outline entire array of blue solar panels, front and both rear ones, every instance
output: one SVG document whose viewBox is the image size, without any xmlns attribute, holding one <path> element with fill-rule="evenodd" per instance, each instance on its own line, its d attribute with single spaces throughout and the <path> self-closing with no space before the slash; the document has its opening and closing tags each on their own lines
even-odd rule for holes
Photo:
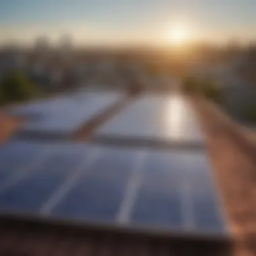
<svg viewBox="0 0 256 256">
<path fill-rule="evenodd" d="M 13 113 L 31 118 L 22 131 L 68 135 L 120 98 L 118 93 L 74 92 Z M 228 234 L 207 152 L 172 147 L 205 144 L 183 96 L 141 96 L 98 129 L 94 139 L 122 146 L 17 139 L 2 146 L 0 212 Z M 127 141 L 170 147 L 127 147 Z"/>
</svg>

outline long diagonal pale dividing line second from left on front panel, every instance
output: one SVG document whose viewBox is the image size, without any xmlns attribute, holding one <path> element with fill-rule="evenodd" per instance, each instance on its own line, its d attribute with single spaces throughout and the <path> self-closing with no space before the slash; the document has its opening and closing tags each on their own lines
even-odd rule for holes
<svg viewBox="0 0 256 256">
<path fill-rule="evenodd" d="M 88 169 L 91 164 L 93 164 L 94 160 L 99 156 L 100 150 L 98 148 L 94 148 L 88 156 L 82 161 L 81 164 L 77 167 L 77 170 L 73 172 L 62 185 L 60 185 L 56 191 L 53 193 L 51 198 L 49 198 L 40 208 L 40 214 L 49 215 L 51 211 L 57 206 L 59 202 L 61 202 L 65 195 L 67 195 L 68 191 L 72 189 L 77 183 L 79 177 L 83 174 L 84 170 Z"/>
</svg>

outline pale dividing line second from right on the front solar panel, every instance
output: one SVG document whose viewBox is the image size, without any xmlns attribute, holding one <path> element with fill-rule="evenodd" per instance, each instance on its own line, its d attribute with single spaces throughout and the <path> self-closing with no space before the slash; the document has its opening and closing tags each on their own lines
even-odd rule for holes
<svg viewBox="0 0 256 256">
<path fill-rule="evenodd" d="M 137 154 L 131 177 L 127 183 L 125 197 L 121 203 L 119 213 L 117 214 L 117 222 L 119 223 L 129 222 L 132 208 L 137 198 L 137 192 L 139 191 L 139 186 L 141 185 L 143 173 L 145 171 L 145 162 L 146 152 L 141 151 Z"/>
</svg>

